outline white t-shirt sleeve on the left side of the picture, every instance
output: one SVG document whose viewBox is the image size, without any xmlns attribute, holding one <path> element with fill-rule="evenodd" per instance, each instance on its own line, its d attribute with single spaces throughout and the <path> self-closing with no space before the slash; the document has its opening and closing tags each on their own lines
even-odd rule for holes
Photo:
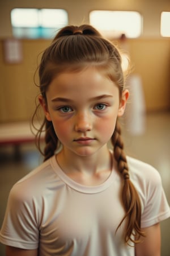
<svg viewBox="0 0 170 256">
<path fill-rule="evenodd" d="M 27 189 L 15 184 L 10 191 L 0 241 L 5 245 L 33 250 L 39 245 L 36 207 Z"/>
</svg>

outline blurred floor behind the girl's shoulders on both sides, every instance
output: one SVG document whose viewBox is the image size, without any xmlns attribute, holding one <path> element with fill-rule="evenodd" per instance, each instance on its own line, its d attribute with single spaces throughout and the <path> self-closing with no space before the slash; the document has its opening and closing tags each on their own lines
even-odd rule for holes
<svg viewBox="0 0 170 256">
<path fill-rule="evenodd" d="M 143 129 L 136 131 L 131 130 L 128 124 L 122 121 L 126 153 L 158 169 L 170 204 L 170 112 L 147 114 L 144 120 Z M 21 155 L 17 159 L 14 158 L 14 148 L 0 148 L 0 226 L 10 188 L 42 161 L 33 144 L 25 144 L 20 149 Z M 162 256 L 170 255 L 169 227 L 170 218 L 161 223 Z M 0 255 L 5 256 L 3 245 L 0 245 Z"/>
</svg>

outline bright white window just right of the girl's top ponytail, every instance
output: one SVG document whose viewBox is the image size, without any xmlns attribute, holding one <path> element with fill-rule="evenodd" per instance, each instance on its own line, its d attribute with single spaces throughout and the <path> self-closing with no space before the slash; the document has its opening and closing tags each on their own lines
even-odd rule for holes
<svg viewBox="0 0 170 256">
<path fill-rule="evenodd" d="M 137 11 L 91 11 L 90 23 L 103 35 L 137 38 L 142 32 L 142 16 Z"/>
</svg>

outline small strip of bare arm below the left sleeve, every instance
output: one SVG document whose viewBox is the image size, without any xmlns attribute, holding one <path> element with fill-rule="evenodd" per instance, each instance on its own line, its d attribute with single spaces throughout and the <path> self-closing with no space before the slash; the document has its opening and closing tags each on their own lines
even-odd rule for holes
<svg viewBox="0 0 170 256">
<path fill-rule="evenodd" d="M 6 246 L 6 256 L 37 256 L 38 250 L 24 250 L 12 246 Z"/>
</svg>

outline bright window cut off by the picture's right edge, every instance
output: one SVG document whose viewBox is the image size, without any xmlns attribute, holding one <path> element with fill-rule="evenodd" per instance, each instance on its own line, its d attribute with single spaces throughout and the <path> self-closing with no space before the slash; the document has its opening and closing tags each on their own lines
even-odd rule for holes
<svg viewBox="0 0 170 256">
<path fill-rule="evenodd" d="M 170 36 L 170 11 L 163 11 L 160 18 L 160 34 Z"/>
</svg>

